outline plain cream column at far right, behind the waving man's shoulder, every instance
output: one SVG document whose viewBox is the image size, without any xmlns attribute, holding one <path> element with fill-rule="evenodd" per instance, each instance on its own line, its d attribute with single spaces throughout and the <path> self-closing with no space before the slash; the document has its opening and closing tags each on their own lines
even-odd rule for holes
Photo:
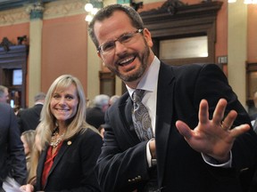
<svg viewBox="0 0 257 192">
<path fill-rule="evenodd" d="M 245 60 L 247 59 L 247 5 L 228 4 L 228 81 L 246 108 Z"/>
</svg>

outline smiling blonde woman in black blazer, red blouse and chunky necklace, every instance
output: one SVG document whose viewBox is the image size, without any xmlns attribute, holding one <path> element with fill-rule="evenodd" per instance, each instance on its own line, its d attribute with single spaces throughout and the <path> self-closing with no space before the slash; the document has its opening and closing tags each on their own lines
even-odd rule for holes
<svg viewBox="0 0 257 192">
<path fill-rule="evenodd" d="M 59 76 L 50 86 L 41 112 L 42 153 L 32 191 L 100 191 L 94 167 L 102 138 L 85 122 L 86 100 L 78 78 Z M 46 150 L 44 150 L 46 148 Z"/>
</svg>

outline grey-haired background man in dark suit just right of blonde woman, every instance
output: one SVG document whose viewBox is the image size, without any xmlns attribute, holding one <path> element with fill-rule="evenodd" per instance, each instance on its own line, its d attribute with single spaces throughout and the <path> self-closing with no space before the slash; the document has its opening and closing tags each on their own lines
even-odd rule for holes
<svg viewBox="0 0 257 192">
<path fill-rule="evenodd" d="M 93 108 L 87 108 L 86 121 L 96 129 L 104 124 L 105 111 L 109 107 L 110 97 L 105 94 L 96 95 L 93 101 Z"/>
</svg>

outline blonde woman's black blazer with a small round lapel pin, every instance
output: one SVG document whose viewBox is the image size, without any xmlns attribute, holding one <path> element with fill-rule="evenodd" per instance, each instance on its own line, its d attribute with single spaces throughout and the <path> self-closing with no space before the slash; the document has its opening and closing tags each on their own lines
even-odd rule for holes
<svg viewBox="0 0 257 192">
<path fill-rule="evenodd" d="M 96 159 L 101 152 L 101 136 L 87 129 L 71 140 L 64 140 L 46 180 L 41 186 L 47 149 L 37 165 L 37 190 L 91 192 L 100 191 L 94 172 Z"/>
</svg>

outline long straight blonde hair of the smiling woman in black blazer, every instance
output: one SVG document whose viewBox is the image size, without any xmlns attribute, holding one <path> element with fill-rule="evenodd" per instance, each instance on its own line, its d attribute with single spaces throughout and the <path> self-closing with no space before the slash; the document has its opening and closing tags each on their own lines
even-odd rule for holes
<svg viewBox="0 0 257 192">
<path fill-rule="evenodd" d="M 74 84 L 77 88 L 78 96 L 78 107 L 75 116 L 66 121 L 67 130 L 63 137 L 63 140 L 69 140 L 75 134 L 86 130 L 85 128 L 91 128 L 89 124 L 86 123 L 86 98 L 84 94 L 84 89 L 82 84 L 79 82 L 79 79 L 71 75 L 62 75 L 54 80 L 54 83 L 50 86 L 48 92 L 46 93 L 46 100 L 44 107 L 41 111 L 40 121 L 44 126 L 42 129 L 42 148 L 45 148 L 47 144 L 50 143 L 52 133 L 56 128 L 56 118 L 51 113 L 50 102 L 53 97 L 54 92 L 58 89 L 66 89 L 71 84 Z"/>
</svg>

